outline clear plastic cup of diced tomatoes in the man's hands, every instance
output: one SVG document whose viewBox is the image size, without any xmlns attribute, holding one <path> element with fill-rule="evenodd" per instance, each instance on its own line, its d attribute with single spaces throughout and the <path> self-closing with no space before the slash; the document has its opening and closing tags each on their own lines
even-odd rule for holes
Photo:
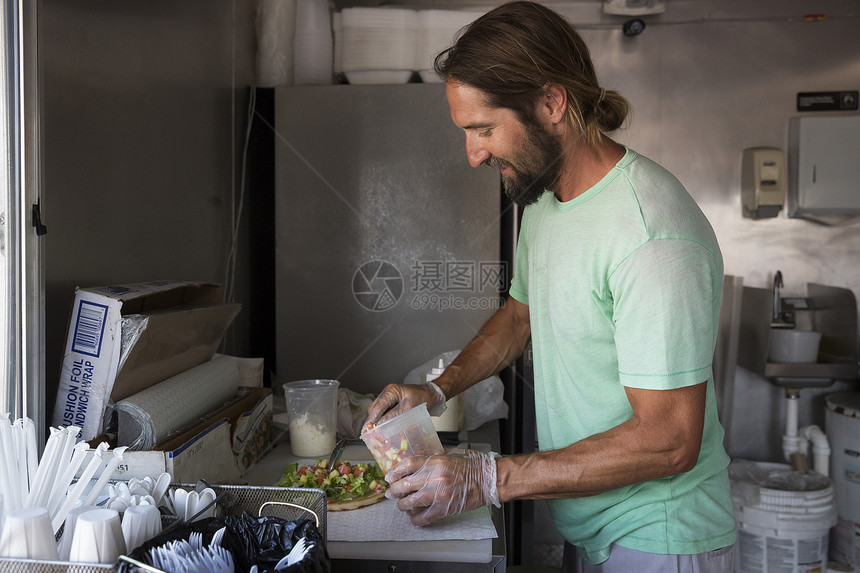
<svg viewBox="0 0 860 573">
<path fill-rule="evenodd" d="M 426 404 L 367 430 L 361 439 L 385 473 L 408 457 L 445 453 Z"/>
</svg>

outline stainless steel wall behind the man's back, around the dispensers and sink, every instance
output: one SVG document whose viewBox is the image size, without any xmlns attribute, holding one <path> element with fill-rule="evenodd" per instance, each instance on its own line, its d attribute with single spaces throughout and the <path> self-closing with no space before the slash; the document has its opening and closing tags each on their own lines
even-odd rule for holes
<svg viewBox="0 0 860 573">
<path fill-rule="evenodd" d="M 631 38 L 621 32 L 624 18 L 602 15 L 599 3 L 552 6 L 579 27 L 602 84 L 633 105 L 617 138 L 686 185 L 716 230 L 727 274 L 768 287 L 779 269 L 786 294 L 805 294 L 807 282 L 860 290 L 857 219 L 837 227 L 784 213 L 756 221 L 742 217 L 740 202 L 743 150 L 787 155 L 798 92 L 860 88 L 856 2 L 817 2 L 814 12 L 826 17 L 807 22 L 813 7 L 796 0 L 668 0 Z M 782 391 L 742 369 L 735 382 L 729 453 L 779 460 Z M 844 387 L 804 390 L 800 423 L 823 427 L 823 394 Z"/>
</svg>

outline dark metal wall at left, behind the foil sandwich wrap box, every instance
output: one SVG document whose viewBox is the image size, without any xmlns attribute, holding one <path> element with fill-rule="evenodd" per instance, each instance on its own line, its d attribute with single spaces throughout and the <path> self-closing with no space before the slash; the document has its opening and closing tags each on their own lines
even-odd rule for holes
<svg viewBox="0 0 860 573">
<path fill-rule="evenodd" d="M 240 0 L 42 1 L 49 411 L 76 286 L 224 280 L 253 10 Z"/>
</svg>

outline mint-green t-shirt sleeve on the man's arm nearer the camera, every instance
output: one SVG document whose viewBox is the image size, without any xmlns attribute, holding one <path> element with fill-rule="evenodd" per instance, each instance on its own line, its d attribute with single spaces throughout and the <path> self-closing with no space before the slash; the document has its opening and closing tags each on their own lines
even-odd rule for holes
<svg viewBox="0 0 860 573">
<path fill-rule="evenodd" d="M 708 380 L 716 343 L 719 254 L 691 240 L 652 240 L 613 272 L 621 383 L 673 389 Z"/>
</svg>

